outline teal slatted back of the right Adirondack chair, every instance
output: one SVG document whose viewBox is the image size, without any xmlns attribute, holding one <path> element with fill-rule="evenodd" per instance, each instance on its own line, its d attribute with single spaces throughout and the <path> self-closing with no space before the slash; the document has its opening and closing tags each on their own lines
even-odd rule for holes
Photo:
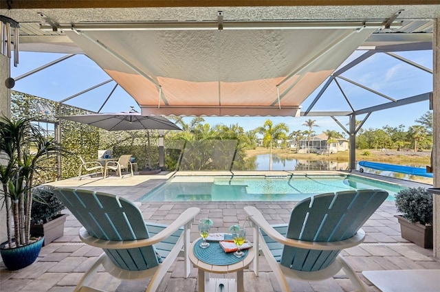
<svg viewBox="0 0 440 292">
<path fill-rule="evenodd" d="M 298 203 L 290 217 L 287 238 L 334 242 L 351 238 L 384 202 L 382 190 L 344 191 L 319 194 Z M 328 267 L 340 250 L 322 251 L 284 247 L 281 265 L 298 271 Z"/>
</svg>

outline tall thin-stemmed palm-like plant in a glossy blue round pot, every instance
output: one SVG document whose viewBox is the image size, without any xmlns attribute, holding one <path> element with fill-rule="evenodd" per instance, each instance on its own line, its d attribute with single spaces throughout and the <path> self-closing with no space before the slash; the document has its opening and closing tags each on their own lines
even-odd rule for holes
<svg viewBox="0 0 440 292">
<path fill-rule="evenodd" d="M 10 120 L 0 117 L 0 198 L 5 207 L 8 241 L 1 243 L 3 263 L 10 270 L 31 265 L 36 260 L 43 236 L 30 233 L 32 188 L 47 160 L 61 153 L 54 139 L 47 139 L 28 118 Z M 23 254 L 24 253 L 24 254 Z"/>
</svg>

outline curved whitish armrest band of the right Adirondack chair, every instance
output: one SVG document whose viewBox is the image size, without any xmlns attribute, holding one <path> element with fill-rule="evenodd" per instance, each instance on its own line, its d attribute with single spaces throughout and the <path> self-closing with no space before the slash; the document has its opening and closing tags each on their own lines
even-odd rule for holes
<svg viewBox="0 0 440 292">
<path fill-rule="evenodd" d="M 272 227 L 272 225 L 270 225 L 266 221 L 263 214 L 261 214 L 261 212 L 258 209 L 256 209 L 256 207 L 246 206 L 244 207 L 244 210 L 246 213 L 248 213 L 249 215 L 248 218 L 250 219 L 250 221 L 252 221 L 261 230 L 263 230 L 267 234 L 267 236 L 269 236 L 273 240 L 276 240 L 278 243 L 281 243 L 283 245 L 288 245 L 290 247 L 299 247 L 303 249 L 318 249 L 318 250 L 346 249 L 349 247 L 355 247 L 356 245 L 359 245 L 365 239 L 365 232 L 363 229 L 359 229 L 358 232 L 356 232 L 356 234 L 351 238 L 348 238 L 346 240 L 333 241 L 329 243 L 286 238 L 285 236 L 277 232 L 276 229 L 274 229 L 274 227 Z"/>
</svg>

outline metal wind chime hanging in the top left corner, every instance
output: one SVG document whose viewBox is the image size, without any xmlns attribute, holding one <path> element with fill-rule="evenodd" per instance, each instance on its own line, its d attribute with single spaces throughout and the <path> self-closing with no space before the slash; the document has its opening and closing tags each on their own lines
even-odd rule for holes
<svg viewBox="0 0 440 292">
<path fill-rule="evenodd" d="M 20 25 L 8 16 L 0 15 L 0 54 L 11 58 L 14 46 L 14 66 L 19 64 L 19 28 Z"/>
</svg>

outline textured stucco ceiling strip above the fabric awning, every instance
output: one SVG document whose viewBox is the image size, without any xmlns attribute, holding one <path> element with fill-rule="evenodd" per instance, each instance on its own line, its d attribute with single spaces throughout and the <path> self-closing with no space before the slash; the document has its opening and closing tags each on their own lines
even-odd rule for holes
<svg viewBox="0 0 440 292">
<path fill-rule="evenodd" d="M 2 7 L 3 8 L 3 7 Z M 41 14 L 54 23 L 108 21 L 212 21 L 217 12 L 225 21 L 270 20 L 368 20 L 388 19 L 403 10 L 399 19 L 439 17 L 437 5 L 347 5 L 347 6 L 278 6 L 278 7 L 184 7 L 184 8 L 87 8 L 87 9 L 0 9 L 0 13 L 19 22 L 40 22 Z"/>
</svg>

